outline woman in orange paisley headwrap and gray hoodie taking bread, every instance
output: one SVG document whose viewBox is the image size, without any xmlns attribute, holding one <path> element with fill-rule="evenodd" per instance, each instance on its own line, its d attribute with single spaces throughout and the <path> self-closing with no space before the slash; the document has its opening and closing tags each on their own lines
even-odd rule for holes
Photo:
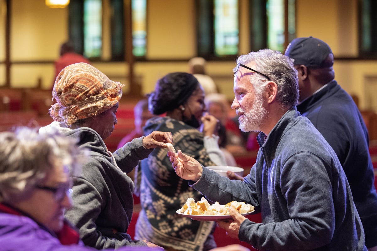
<svg viewBox="0 0 377 251">
<path fill-rule="evenodd" d="M 65 216 L 80 228 L 84 243 L 97 249 L 156 246 L 145 240 L 132 240 L 127 234 L 134 184 L 126 173 L 154 148 L 166 148 L 166 143 L 172 143 L 170 132 L 153 131 L 114 153 L 107 151 L 103 140 L 117 123 L 115 114 L 122 87 L 92 65 L 65 67 L 52 91 L 56 103 L 49 112 L 55 121 L 40 129 L 58 129 L 67 137 L 77 138 L 80 148 L 89 150 L 89 161 L 74 181 L 73 207 Z"/>
</svg>

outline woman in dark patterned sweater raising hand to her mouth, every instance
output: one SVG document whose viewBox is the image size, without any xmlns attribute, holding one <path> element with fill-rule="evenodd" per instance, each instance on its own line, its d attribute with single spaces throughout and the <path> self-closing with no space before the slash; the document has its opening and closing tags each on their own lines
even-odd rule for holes
<svg viewBox="0 0 377 251">
<path fill-rule="evenodd" d="M 218 120 L 203 115 L 204 91 L 193 75 L 175 72 L 159 79 L 149 96 L 149 110 L 156 115 L 166 113 L 166 116 L 150 119 L 144 127 L 145 133 L 172 132 L 177 151 L 187 152 L 204 166 L 225 164 L 218 136 L 214 135 Z M 175 174 L 167 152 L 167 149 L 155 149 L 138 166 L 142 209 L 135 238 L 148 239 L 168 251 L 216 247 L 213 222 L 192 221 L 176 213 L 188 198 L 198 201 L 202 196 Z"/>
</svg>

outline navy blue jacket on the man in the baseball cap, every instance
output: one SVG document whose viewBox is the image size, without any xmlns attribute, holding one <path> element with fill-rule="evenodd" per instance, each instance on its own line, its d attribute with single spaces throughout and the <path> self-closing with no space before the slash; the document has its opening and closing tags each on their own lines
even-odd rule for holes
<svg viewBox="0 0 377 251">
<path fill-rule="evenodd" d="M 365 231 L 365 245 L 377 245 L 377 194 L 363 118 L 351 96 L 335 80 L 304 100 L 297 110 L 334 149 L 347 176 Z"/>
</svg>

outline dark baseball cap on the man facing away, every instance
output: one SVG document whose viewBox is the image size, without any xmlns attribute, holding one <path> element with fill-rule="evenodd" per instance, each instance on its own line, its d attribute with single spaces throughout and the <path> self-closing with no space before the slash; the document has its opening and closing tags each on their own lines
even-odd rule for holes
<svg viewBox="0 0 377 251">
<path fill-rule="evenodd" d="M 303 64 L 306 67 L 326 68 L 334 64 L 334 55 L 331 48 L 318 38 L 295 38 L 288 45 L 284 54 L 293 59 L 296 65 Z M 332 59 L 325 60 L 329 54 L 332 54 Z"/>
</svg>

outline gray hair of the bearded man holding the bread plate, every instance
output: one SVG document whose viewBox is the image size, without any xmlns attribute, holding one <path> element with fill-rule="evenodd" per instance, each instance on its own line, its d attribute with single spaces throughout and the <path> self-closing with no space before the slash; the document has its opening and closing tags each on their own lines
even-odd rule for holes
<svg viewBox="0 0 377 251">
<path fill-rule="evenodd" d="M 276 99 L 285 108 L 297 105 L 299 99 L 298 76 L 291 58 L 275 50 L 263 49 L 241 55 L 237 59 L 237 63 L 245 65 L 250 62 L 256 64 L 254 70 L 265 74 L 277 84 Z M 233 69 L 233 71 L 235 70 L 236 68 Z M 268 83 L 267 79 L 259 74 L 253 74 L 251 80 L 253 80 L 252 84 L 257 94 L 261 94 Z"/>
</svg>

